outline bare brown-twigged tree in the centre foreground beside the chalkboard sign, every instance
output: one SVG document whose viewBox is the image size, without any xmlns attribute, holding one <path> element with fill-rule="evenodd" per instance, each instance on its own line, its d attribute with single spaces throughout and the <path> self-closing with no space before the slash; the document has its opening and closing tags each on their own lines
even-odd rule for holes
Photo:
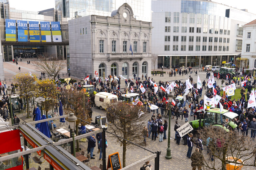
<svg viewBox="0 0 256 170">
<path fill-rule="evenodd" d="M 138 116 L 141 111 L 144 111 L 143 106 L 132 105 L 126 102 L 117 102 L 108 104 L 107 119 L 111 123 L 108 130 L 117 136 L 123 137 L 133 143 L 141 144 L 142 128 L 145 126 L 144 114 Z M 126 150 L 131 146 L 126 140 L 123 140 L 115 135 L 110 137 L 115 138 L 117 143 L 123 145 L 123 167 L 126 167 Z"/>
</svg>

